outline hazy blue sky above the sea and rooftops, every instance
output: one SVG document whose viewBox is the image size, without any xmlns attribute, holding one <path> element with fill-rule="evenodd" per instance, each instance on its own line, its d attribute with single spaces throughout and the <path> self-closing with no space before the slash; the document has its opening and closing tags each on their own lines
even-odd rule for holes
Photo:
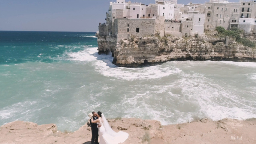
<svg viewBox="0 0 256 144">
<path fill-rule="evenodd" d="M 105 22 L 110 1 L 116 2 L 116 0 L 0 0 L 0 31 L 96 32 L 99 22 Z M 155 0 L 130 1 L 155 3 Z M 178 0 L 178 3 L 205 1 L 209 0 Z"/>
</svg>

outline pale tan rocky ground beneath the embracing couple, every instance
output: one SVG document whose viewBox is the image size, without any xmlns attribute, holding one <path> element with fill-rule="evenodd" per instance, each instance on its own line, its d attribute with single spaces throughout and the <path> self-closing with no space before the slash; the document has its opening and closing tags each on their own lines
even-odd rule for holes
<svg viewBox="0 0 256 144">
<path fill-rule="evenodd" d="M 123 144 L 255 144 L 256 119 L 222 119 L 176 125 L 161 125 L 156 120 L 111 119 L 114 131 L 129 134 Z M 83 125 L 75 132 L 61 132 L 55 124 L 37 125 L 15 121 L 0 127 L 1 144 L 90 144 L 91 128 Z"/>
</svg>

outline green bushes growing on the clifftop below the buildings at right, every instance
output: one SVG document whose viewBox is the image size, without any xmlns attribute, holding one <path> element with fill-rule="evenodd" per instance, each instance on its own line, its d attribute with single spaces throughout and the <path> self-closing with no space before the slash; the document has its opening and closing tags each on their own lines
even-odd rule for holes
<svg viewBox="0 0 256 144">
<path fill-rule="evenodd" d="M 243 35 L 244 31 L 241 30 L 241 29 L 238 29 L 238 28 L 236 28 L 236 27 L 232 27 L 232 28 L 230 29 L 230 31 L 229 31 L 229 30 L 225 30 L 225 29 L 224 29 L 223 27 L 221 27 L 221 26 L 217 26 L 217 27 L 216 27 L 216 30 L 217 30 L 218 35 L 219 35 L 220 37 L 232 36 L 232 37 L 236 38 L 236 41 L 237 41 L 237 42 L 242 43 L 244 46 L 248 46 L 248 47 L 255 48 L 255 45 L 256 45 L 256 44 L 255 44 L 254 42 L 250 41 L 249 39 L 244 38 L 244 35 Z M 241 37 L 241 35 L 242 35 L 243 37 Z"/>
</svg>

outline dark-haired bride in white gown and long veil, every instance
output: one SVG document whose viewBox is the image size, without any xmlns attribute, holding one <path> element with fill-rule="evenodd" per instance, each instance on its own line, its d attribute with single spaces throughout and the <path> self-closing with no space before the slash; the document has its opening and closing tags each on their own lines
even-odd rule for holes
<svg viewBox="0 0 256 144">
<path fill-rule="evenodd" d="M 101 125 L 98 132 L 100 137 L 100 144 L 123 143 L 128 138 L 129 134 L 126 132 L 119 131 L 118 133 L 116 133 L 115 131 L 113 131 L 103 113 L 98 112 L 97 117 L 98 119 L 92 119 L 91 121 L 92 123 L 97 123 L 98 125 Z"/>
</svg>

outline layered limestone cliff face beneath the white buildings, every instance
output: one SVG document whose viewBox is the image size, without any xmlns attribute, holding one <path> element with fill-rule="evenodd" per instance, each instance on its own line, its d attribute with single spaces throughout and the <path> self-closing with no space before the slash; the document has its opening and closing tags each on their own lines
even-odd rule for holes
<svg viewBox="0 0 256 144">
<path fill-rule="evenodd" d="M 113 63 L 138 67 L 174 60 L 214 60 L 256 62 L 256 49 L 231 38 L 139 37 L 116 43 L 110 36 L 98 37 L 99 53 L 112 52 Z"/>
</svg>

